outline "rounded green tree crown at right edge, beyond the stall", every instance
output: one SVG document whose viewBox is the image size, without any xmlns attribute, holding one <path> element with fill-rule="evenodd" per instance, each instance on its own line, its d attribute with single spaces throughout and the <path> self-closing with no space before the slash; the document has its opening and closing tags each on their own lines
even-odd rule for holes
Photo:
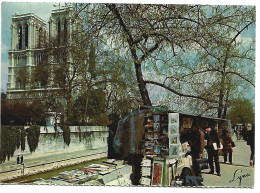
<svg viewBox="0 0 260 193">
<path fill-rule="evenodd" d="M 254 106 L 248 99 L 237 99 L 228 112 L 227 118 L 232 124 L 255 123 Z"/>
</svg>

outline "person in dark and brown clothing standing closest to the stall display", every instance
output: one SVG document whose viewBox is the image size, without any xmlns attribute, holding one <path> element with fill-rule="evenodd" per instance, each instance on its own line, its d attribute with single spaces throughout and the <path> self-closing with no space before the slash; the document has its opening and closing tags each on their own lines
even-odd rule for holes
<svg viewBox="0 0 260 193">
<path fill-rule="evenodd" d="M 195 176 L 201 177 L 201 169 L 198 164 L 197 159 L 202 158 L 202 152 L 204 149 L 204 133 L 199 129 L 196 122 L 193 122 L 190 133 L 190 148 L 191 151 L 187 155 L 192 156 L 192 167 L 195 173 Z"/>
</svg>

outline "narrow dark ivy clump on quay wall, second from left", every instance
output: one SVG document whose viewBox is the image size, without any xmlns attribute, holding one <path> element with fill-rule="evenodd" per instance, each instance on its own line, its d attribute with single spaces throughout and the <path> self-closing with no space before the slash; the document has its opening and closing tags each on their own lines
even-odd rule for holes
<svg viewBox="0 0 260 193">
<path fill-rule="evenodd" d="M 40 138 L 40 126 L 32 125 L 26 129 L 27 142 L 30 148 L 30 152 L 34 152 L 38 146 Z"/>
</svg>

